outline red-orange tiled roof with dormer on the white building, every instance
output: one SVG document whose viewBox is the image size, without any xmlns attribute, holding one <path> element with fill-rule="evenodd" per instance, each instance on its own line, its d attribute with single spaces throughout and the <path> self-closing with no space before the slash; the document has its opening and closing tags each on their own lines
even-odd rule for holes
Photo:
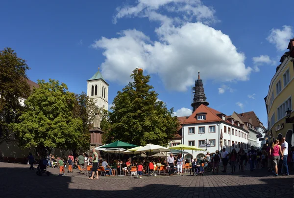
<svg viewBox="0 0 294 198">
<path fill-rule="evenodd" d="M 197 120 L 196 114 L 199 112 L 205 112 L 206 119 L 205 120 Z M 190 115 L 190 117 L 184 122 L 184 124 L 194 124 L 194 123 L 205 123 L 205 122 L 219 122 L 222 119 L 217 116 L 216 114 L 221 113 L 220 111 L 214 110 L 212 108 L 209 108 L 205 105 L 200 105 L 193 113 Z"/>
</svg>

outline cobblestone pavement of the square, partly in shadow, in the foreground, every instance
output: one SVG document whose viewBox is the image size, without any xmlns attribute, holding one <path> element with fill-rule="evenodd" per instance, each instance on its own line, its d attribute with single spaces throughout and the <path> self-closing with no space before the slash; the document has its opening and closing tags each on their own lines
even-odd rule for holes
<svg viewBox="0 0 294 198">
<path fill-rule="evenodd" d="M 0 197 L 3 198 L 283 198 L 294 197 L 294 173 L 273 177 L 267 170 L 205 176 L 103 177 L 89 180 L 75 173 L 37 176 L 27 165 L 0 163 Z"/>
</svg>

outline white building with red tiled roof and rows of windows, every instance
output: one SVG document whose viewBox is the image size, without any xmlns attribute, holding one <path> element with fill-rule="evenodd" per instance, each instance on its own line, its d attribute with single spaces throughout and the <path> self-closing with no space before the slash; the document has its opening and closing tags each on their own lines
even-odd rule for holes
<svg viewBox="0 0 294 198">
<path fill-rule="evenodd" d="M 200 147 L 207 140 L 210 144 L 207 152 L 210 153 L 220 151 L 222 148 L 228 152 L 231 152 L 233 148 L 237 152 L 241 147 L 248 148 L 248 131 L 245 130 L 245 125 L 232 118 L 226 118 L 225 114 L 217 110 L 200 105 L 191 116 L 183 120 L 181 136 L 182 143 L 185 145 Z M 178 140 L 171 142 L 173 143 L 178 143 Z M 192 154 L 192 151 L 186 151 Z M 194 151 L 193 157 L 199 157 L 204 153 Z M 191 155 L 185 156 L 185 158 L 190 157 Z"/>
</svg>

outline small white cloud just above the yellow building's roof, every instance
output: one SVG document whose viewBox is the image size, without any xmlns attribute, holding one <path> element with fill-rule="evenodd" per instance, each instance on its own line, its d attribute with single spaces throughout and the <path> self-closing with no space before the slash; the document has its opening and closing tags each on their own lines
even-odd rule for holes
<svg viewBox="0 0 294 198">
<path fill-rule="evenodd" d="M 292 27 L 289 25 L 283 25 L 282 29 L 272 28 L 270 30 L 270 35 L 267 40 L 274 44 L 277 50 L 284 51 L 287 49 L 290 39 L 293 38 Z"/>
</svg>

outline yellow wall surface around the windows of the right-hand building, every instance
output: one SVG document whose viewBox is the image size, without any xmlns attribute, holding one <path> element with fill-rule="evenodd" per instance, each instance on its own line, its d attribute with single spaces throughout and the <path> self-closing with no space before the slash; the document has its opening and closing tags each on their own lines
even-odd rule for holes
<svg viewBox="0 0 294 198">
<path fill-rule="evenodd" d="M 287 59 L 285 60 L 285 62 L 287 62 Z M 281 65 L 282 68 L 280 68 L 281 71 L 280 71 L 280 69 L 278 70 L 279 74 L 271 84 L 271 89 L 269 91 L 268 101 L 267 101 L 267 105 L 268 105 L 268 107 L 270 107 L 269 114 L 268 114 L 269 122 L 270 122 L 271 116 L 273 115 L 273 113 L 275 113 L 275 124 L 272 125 L 271 129 L 269 129 L 269 131 L 270 130 L 272 131 L 273 137 L 275 137 L 275 138 L 278 136 L 279 133 L 281 133 L 282 135 L 285 136 L 287 130 L 292 129 L 292 124 L 285 124 L 285 117 L 282 118 L 281 120 L 277 121 L 278 107 L 280 107 L 280 105 L 282 105 L 290 96 L 292 96 L 292 110 L 294 109 L 294 66 L 293 66 L 293 62 L 291 62 L 291 61 L 288 61 L 287 65 L 283 65 L 283 64 L 285 64 L 285 63 L 282 63 L 282 65 Z M 290 72 L 290 82 L 288 83 L 288 85 L 286 87 L 284 87 L 283 75 L 287 71 L 288 68 L 289 68 L 289 72 Z M 282 90 L 278 95 L 276 95 L 276 84 L 278 83 L 279 80 L 281 80 L 281 89 Z M 274 95 L 274 100 L 273 100 L 272 105 L 269 106 L 272 91 L 273 91 L 273 95 Z M 292 112 L 291 116 L 294 116 L 294 112 Z M 281 123 L 284 123 L 284 129 L 275 132 L 275 127 Z"/>
</svg>

